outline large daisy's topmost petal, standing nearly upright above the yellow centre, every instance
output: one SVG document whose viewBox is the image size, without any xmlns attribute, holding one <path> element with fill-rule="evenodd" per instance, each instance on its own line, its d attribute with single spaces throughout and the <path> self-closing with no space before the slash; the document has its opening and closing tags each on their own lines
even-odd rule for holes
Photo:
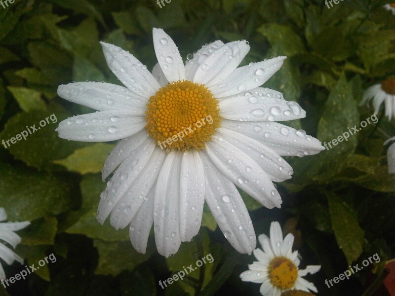
<svg viewBox="0 0 395 296">
<path fill-rule="evenodd" d="M 185 79 L 185 68 L 173 39 L 162 29 L 153 28 L 155 54 L 164 76 L 170 83 Z"/>
</svg>

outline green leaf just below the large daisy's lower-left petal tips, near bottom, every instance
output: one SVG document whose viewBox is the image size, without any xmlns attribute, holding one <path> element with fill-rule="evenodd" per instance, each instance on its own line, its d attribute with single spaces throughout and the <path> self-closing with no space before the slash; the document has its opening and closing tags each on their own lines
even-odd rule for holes
<svg viewBox="0 0 395 296">
<path fill-rule="evenodd" d="M 99 263 L 95 274 L 111 274 L 117 276 L 123 270 L 134 270 L 142 262 L 150 259 L 152 252 L 146 254 L 137 253 L 130 241 L 105 242 L 99 239 L 93 240 L 93 245 L 99 252 Z"/>
</svg>

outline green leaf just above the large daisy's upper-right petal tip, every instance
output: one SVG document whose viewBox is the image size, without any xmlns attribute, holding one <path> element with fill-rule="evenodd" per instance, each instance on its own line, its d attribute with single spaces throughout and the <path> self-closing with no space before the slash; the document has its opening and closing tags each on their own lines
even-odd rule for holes
<svg viewBox="0 0 395 296">
<path fill-rule="evenodd" d="M 301 37 L 289 26 L 265 24 L 258 28 L 258 32 L 268 38 L 275 54 L 291 57 L 305 51 Z"/>
</svg>

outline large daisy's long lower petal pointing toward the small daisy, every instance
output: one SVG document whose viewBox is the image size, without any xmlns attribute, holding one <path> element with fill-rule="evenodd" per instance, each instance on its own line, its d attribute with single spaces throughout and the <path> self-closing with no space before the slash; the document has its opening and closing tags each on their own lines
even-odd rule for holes
<svg viewBox="0 0 395 296">
<path fill-rule="evenodd" d="M 256 237 L 247 208 L 236 186 L 212 163 L 202 150 L 205 172 L 205 200 L 225 238 L 242 254 L 251 254 Z"/>
</svg>

